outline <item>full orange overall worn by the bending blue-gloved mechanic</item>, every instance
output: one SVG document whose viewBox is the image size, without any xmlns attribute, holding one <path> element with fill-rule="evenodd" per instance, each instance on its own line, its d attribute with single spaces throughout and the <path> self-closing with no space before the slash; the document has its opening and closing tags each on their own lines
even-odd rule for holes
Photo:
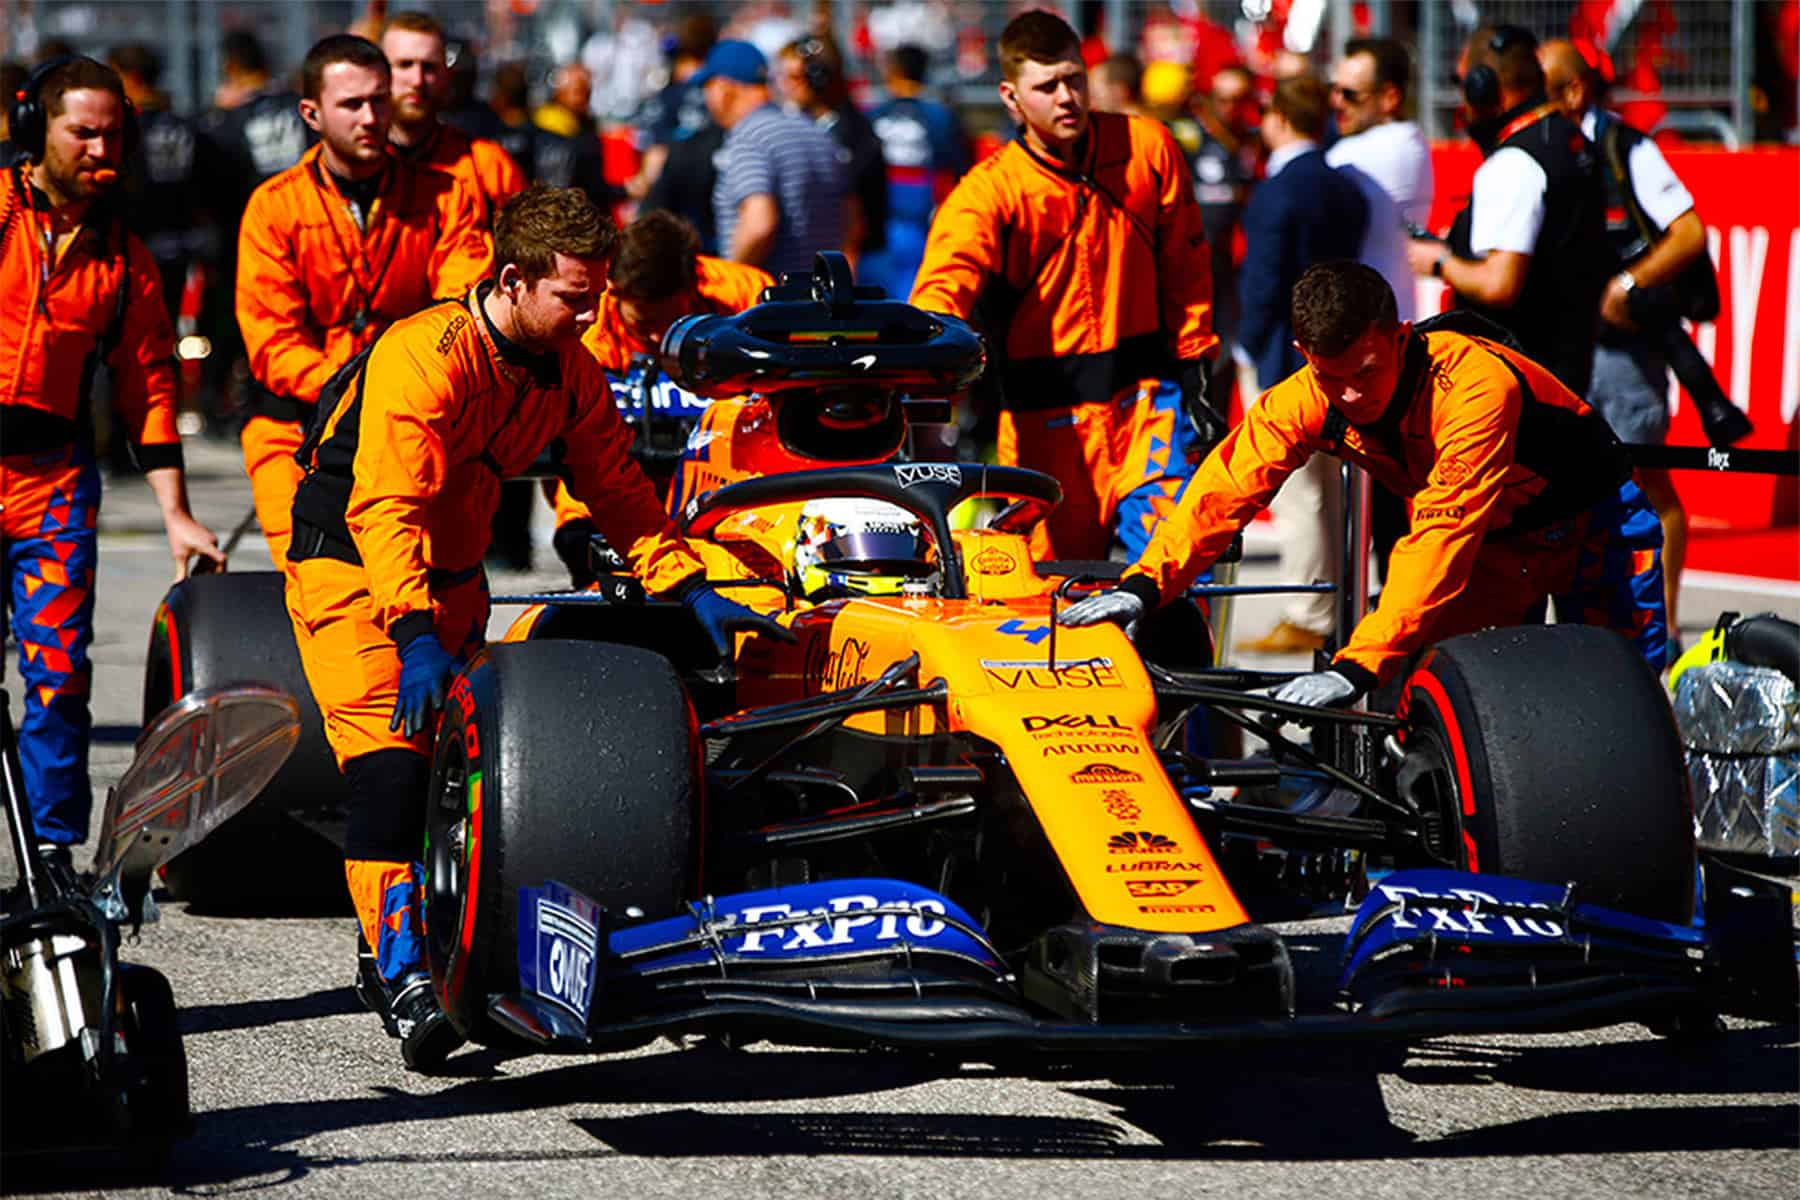
<svg viewBox="0 0 1800 1200">
<path fill-rule="evenodd" d="M 419 968 L 418 864 L 430 730 L 391 729 L 400 648 L 466 657 L 486 633 L 482 556 L 500 482 L 553 450 L 652 592 L 702 567 L 630 459 L 599 363 L 531 354 L 459 302 L 396 322 L 326 414 L 293 502 L 288 615 L 349 781 L 346 878 L 389 982 Z"/>
</svg>

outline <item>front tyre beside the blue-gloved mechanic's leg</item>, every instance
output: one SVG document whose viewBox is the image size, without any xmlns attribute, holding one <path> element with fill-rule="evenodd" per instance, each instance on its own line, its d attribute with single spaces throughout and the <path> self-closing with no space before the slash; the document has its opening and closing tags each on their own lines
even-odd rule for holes
<svg viewBox="0 0 1800 1200">
<path fill-rule="evenodd" d="M 693 705 L 661 655 L 601 642 L 490 646 L 450 689 L 427 808 L 425 945 L 457 1031 L 504 1043 L 518 889 L 560 882 L 607 923 L 689 900 L 700 811 Z"/>
</svg>

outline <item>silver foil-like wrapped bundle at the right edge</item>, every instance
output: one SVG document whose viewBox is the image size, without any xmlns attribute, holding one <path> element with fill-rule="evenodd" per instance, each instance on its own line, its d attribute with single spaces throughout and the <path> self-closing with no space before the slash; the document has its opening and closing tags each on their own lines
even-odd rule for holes
<svg viewBox="0 0 1800 1200">
<path fill-rule="evenodd" d="M 1687 747 L 1705 849 L 1800 855 L 1800 694 L 1780 671 L 1715 662 L 1681 675 Z"/>
</svg>

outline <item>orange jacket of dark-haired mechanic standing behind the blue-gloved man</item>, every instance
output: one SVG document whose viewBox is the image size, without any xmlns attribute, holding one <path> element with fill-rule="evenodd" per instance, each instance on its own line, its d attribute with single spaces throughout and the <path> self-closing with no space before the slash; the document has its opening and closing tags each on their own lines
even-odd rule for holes
<svg viewBox="0 0 1800 1200">
<path fill-rule="evenodd" d="M 392 162 L 356 227 L 313 146 L 250 194 L 238 228 L 238 327 L 250 372 L 311 405 L 394 320 L 493 272 L 481 198 L 432 167 Z"/>
</svg>

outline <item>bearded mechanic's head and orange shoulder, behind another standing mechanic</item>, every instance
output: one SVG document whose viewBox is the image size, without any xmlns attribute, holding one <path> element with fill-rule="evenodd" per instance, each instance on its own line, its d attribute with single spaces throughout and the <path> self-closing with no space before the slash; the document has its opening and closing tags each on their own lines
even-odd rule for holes
<svg viewBox="0 0 1800 1200">
<path fill-rule="evenodd" d="M 526 191 L 526 173 L 499 142 L 470 137 L 439 117 L 450 101 L 443 25 L 425 13 L 396 13 L 382 29 L 382 52 L 394 79 L 391 149 L 463 180 L 481 196 L 481 221 L 491 227 L 499 207 Z"/>
</svg>

